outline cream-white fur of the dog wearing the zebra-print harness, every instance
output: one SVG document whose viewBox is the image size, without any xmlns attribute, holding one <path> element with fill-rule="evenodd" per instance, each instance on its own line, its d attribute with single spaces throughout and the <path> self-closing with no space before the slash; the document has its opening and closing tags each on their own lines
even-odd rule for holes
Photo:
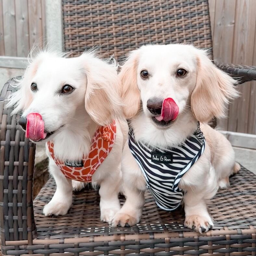
<svg viewBox="0 0 256 256">
<path fill-rule="evenodd" d="M 178 69 L 187 70 L 177 77 Z M 149 72 L 148 79 L 140 77 Z M 206 202 L 223 186 L 223 179 L 234 171 L 235 155 L 228 140 L 203 122 L 224 116 L 225 105 L 236 97 L 235 81 L 218 70 L 207 53 L 191 45 L 147 45 L 130 54 L 119 74 L 122 81 L 124 113 L 136 140 L 149 146 L 175 147 L 197 129 L 206 138 L 206 148 L 199 160 L 183 176 L 179 187 L 184 195 L 185 225 L 199 232 L 213 226 Z M 167 127 L 152 121 L 147 100 L 171 97 L 179 107 L 177 119 Z M 139 102 L 142 102 L 140 105 Z M 122 157 L 123 189 L 126 202 L 115 215 L 113 226 L 138 223 L 144 205 L 145 178 L 126 143 Z"/>
</svg>

